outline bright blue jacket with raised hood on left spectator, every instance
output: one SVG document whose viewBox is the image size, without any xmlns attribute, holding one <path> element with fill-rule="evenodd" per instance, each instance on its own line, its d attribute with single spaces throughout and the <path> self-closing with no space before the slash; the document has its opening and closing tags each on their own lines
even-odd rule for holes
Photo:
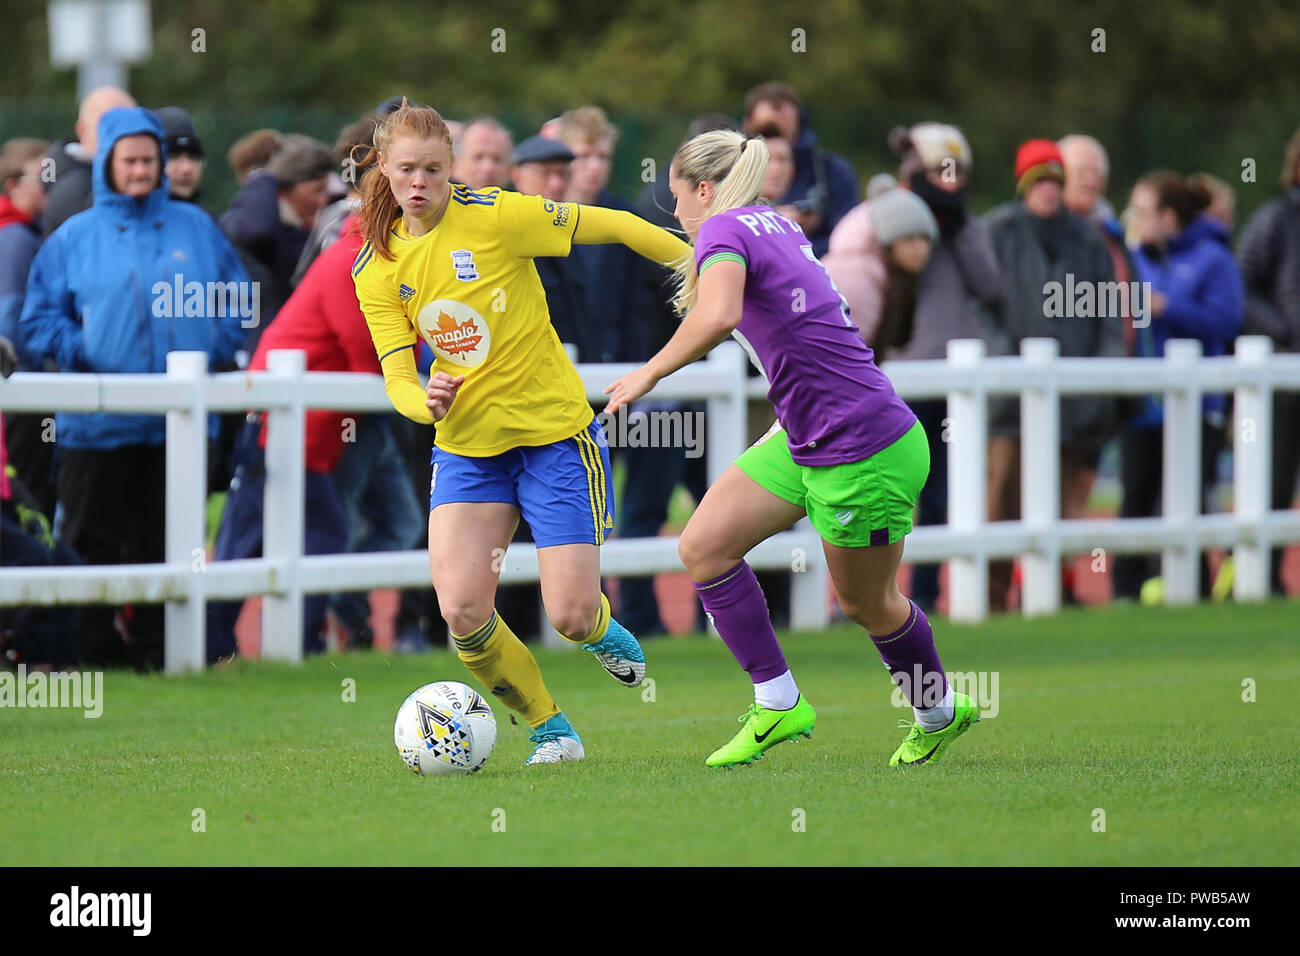
<svg viewBox="0 0 1300 956">
<path fill-rule="evenodd" d="M 211 363 L 224 363 L 244 337 L 238 303 L 248 297 L 248 277 L 208 213 L 168 199 L 166 176 L 143 199 L 117 193 L 109 182 L 108 159 L 117 140 L 142 133 L 162 148 L 162 126 L 150 111 L 104 113 L 92 173 L 95 203 L 56 229 L 31 264 L 20 334 L 27 354 L 53 356 L 64 371 L 165 372 L 166 354 L 174 350 L 204 351 Z M 161 163 L 165 166 L 165 148 Z M 203 284 L 202 308 L 185 289 L 192 282 Z M 238 285 L 213 297 L 216 282 Z M 226 298 L 231 291 L 234 307 Z M 165 419 L 58 414 L 56 431 L 66 447 L 161 445 Z"/>
</svg>

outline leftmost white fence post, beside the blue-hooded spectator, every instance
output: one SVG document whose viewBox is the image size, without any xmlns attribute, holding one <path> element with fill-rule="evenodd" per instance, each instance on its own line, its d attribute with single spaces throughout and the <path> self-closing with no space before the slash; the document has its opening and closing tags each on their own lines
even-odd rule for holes
<svg viewBox="0 0 1300 956">
<path fill-rule="evenodd" d="M 188 386 L 188 405 L 166 414 L 166 563 L 185 568 L 186 600 L 162 611 L 162 659 L 168 674 L 202 670 L 207 661 L 207 604 L 203 596 L 204 516 L 208 501 L 208 414 L 204 381 L 208 355 L 174 351 L 166 377 Z"/>
</svg>

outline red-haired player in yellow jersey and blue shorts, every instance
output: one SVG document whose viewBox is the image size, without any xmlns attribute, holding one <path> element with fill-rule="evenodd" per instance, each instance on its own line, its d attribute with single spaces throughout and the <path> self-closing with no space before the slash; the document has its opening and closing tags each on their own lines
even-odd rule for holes
<svg viewBox="0 0 1300 956">
<path fill-rule="evenodd" d="M 429 570 L 442 617 L 469 672 L 533 728 L 528 763 L 582 760 L 537 661 L 493 606 L 499 555 L 523 515 L 555 630 L 620 683 L 645 676 L 641 646 L 601 593 L 599 545 L 614 527 L 604 433 L 533 258 L 621 242 L 681 269 L 690 247 L 629 212 L 450 183 L 451 137 L 433 109 L 403 101 L 374 131 L 374 150 L 352 278 L 389 398 L 407 418 L 438 423 Z M 436 356 L 428 386 L 416 375 L 420 338 Z"/>
</svg>

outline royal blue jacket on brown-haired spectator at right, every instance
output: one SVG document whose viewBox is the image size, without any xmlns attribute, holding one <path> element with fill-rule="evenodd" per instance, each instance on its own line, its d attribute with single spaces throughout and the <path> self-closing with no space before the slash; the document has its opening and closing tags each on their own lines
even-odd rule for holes
<svg viewBox="0 0 1300 956">
<path fill-rule="evenodd" d="M 1197 338 L 1205 355 L 1227 355 L 1245 315 L 1245 289 L 1227 230 L 1201 216 L 1170 239 L 1164 251 L 1139 246 L 1132 256 L 1138 278 L 1165 297 L 1164 313 L 1136 329 L 1138 356 L 1162 356 L 1171 338 Z M 1161 406 L 1161 395 L 1145 395 L 1141 412 L 1132 419 L 1134 428 L 1158 428 L 1165 420 Z M 1227 397 L 1204 395 L 1201 407 L 1206 416 L 1222 423 Z"/>
</svg>

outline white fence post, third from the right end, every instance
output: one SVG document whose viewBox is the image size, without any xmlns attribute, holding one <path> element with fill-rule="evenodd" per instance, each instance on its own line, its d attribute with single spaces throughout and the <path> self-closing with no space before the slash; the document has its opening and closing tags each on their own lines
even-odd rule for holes
<svg viewBox="0 0 1300 956">
<path fill-rule="evenodd" d="M 1061 607 L 1061 397 L 1052 378 L 1060 356 L 1061 343 L 1054 338 L 1020 342 L 1024 363 L 1045 375 L 1043 386 L 1020 393 L 1020 520 L 1043 542 L 1020 558 L 1026 617 Z"/>
</svg>

